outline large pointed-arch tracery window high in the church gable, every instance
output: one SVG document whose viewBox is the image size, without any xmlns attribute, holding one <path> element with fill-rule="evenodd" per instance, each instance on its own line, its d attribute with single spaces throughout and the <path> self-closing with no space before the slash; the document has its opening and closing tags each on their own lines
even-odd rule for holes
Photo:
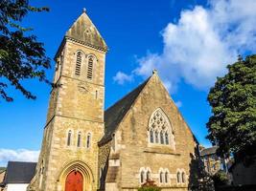
<svg viewBox="0 0 256 191">
<path fill-rule="evenodd" d="M 164 114 L 164 112 L 158 108 L 156 109 L 150 118 L 149 122 L 149 142 L 171 145 L 175 148 L 174 142 L 174 130 L 169 121 L 169 118 Z"/>
</svg>

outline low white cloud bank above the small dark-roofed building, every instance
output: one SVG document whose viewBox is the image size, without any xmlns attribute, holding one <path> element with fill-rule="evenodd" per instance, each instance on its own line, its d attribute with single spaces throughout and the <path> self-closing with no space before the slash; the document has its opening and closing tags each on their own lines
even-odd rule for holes
<svg viewBox="0 0 256 191">
<path fill-rule="evenodd" d="M 7 165 L 9 160 L 13 161 L 37 161 L 39 151 L 27 149 L 0 149 L 0 164 Z"/>
</svg>

